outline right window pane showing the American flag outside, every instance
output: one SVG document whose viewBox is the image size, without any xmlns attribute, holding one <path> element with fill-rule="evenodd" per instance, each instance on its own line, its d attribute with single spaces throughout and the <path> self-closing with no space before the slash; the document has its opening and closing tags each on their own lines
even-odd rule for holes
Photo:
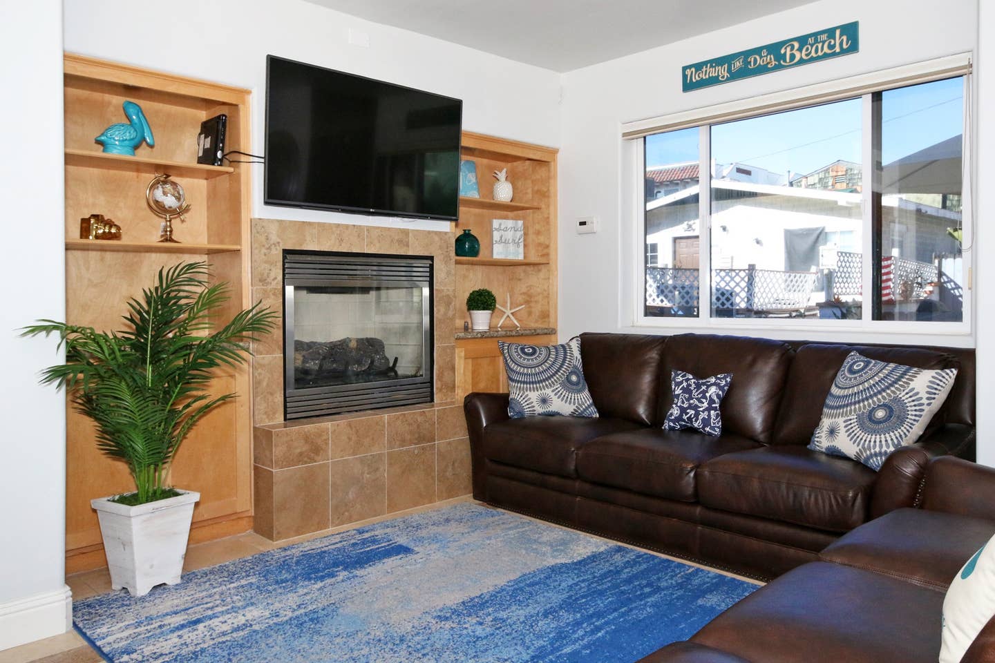
<svg viewBox="0 0 995 663">
<path fill-rule="evenodd" d="M 876 320 L 963 320 L 963 81 L 873 95 Z"/>
</svg>

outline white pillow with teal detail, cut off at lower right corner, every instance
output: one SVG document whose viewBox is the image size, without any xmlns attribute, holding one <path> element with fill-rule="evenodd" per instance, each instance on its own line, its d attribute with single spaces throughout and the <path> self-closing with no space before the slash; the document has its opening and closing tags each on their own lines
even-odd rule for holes
<svg viewBox="0 0 995 663">
<path fill-rule="evenodd" d="M 995 615 L 995 537 L 950 582 L 943 598 L 939 663 L 959 663 Z"/>
</svg>

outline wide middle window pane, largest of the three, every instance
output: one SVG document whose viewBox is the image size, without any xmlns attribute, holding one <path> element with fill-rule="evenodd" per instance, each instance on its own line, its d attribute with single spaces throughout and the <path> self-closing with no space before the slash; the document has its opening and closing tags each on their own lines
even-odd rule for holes
<svg viewBox="0 0 995 663">
<path fill-rule="evenodd" d="M 862 101 L 711 127 L 711 315 L 859 319 Z"/>
</svg>

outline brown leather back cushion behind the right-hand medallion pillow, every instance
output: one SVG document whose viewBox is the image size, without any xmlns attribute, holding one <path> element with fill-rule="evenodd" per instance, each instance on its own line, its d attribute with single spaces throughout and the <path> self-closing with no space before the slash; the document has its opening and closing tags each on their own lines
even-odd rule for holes
<svg viewBox="0 0 995 663">
<path fill-rule="evenodd" d="M 959 362 L 951 355 L 920 348 L 889 348 L 857 345 L 809 343 L 795 352 L 771 438 L 774 444 L 808 444 L 822 418 L 826 397 L 843 361 L 851 352 L 881 362 L 917 369 L 955 369 Z M 942 414 L 942 410 L 940 413 Z M 942 416 L 934 417 L 937 423 Z"/>
</svg>

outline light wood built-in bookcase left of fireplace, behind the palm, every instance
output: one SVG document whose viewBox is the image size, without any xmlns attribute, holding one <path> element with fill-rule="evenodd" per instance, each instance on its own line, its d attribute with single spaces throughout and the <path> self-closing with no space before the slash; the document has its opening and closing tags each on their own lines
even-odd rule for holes
<svg viewBox="0 0 995 663">
<path fill-rule="evenodd" d="M 223 323 L 250 302 L 249 164 L 197 164 L 205 119 L 225 113 L 225 150 L 251 152 L 250 91 L 67 54 L 66 316 L 73 324 L 118 329 L 128 297 L 140 294 L 163 265 L 208 260 L 213 278 L 232 286 Z M 137 102 L 155 146 L 135 156 L 103 154 L 94 137 L 126 122 L 121 103 Z M 244 158 L 244 157 L 243 157 Z M 182 244 L 158 244 L 161 219 L 145 204 L 145 187 L 168 173 L 191 204 L 173 221 Z M 121 241 L 80 239 L 80 219 L 102 214 L 121 227 Z M 252 384 L 248 367 L 219 372 L 212 391 L 238 398 L 205 417 L 183 443 L 171 481 L 197 490 L 191 542 L 252 526 Z M 133 490 L 124 465 L 100 454 L 90 419 L 67 414 L 67 573 L 104 566 L 100 527 L 90 500 Z"/>
</svg>

